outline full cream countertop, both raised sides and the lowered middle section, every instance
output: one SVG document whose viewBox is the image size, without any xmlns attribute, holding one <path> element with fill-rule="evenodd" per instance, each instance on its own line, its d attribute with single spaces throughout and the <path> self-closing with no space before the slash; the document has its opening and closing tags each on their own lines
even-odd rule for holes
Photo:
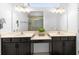
<svg viewBox="0 0 79 59">
<path fill-rule="evenodd" d="M 64 31 L 47 31 L 45 33 L 45 36 L 39 36 L 37 31 L 0 32 L 0 36 L 1 38 L 31 37 L 31 40 L 51 39 L 50 37 L 54 36 L 76 36 L 76 33 Z"/>
</svg>

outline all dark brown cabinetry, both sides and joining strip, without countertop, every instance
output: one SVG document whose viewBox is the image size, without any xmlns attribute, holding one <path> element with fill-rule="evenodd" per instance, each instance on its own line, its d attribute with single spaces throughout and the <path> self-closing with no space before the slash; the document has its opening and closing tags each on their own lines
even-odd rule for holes
<svg viewBox="0 0 79 59">
<path fill-rule="evenodd" d="M 52 40 L 32 41 L 30 37 L 1 38 L 2 55 L 31 55 L 33 43 L 49 42 L 49 54 L 76 55 L 76 36 L 51 37 Z"/>
</svg>

